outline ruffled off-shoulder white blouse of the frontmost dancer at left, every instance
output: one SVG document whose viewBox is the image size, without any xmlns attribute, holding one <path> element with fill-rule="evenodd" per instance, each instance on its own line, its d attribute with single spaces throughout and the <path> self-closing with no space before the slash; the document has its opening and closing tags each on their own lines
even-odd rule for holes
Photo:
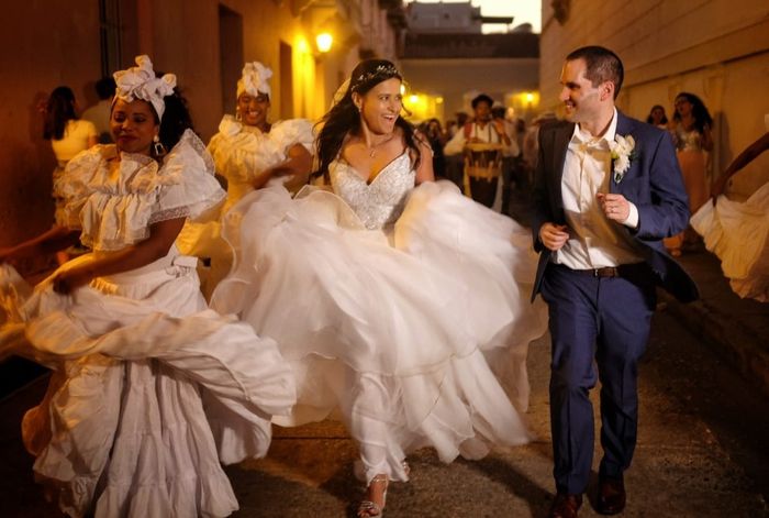
<svg viewBox="0 0 769 518">
<path fill-rule="evenodd" d="M 97 145 L 73 158 L 54 185 L 64 199 L 63 223 L 80 229 L 81 242 L 94 251 L 115 251 L 149 236 L 149 225 L 194 219 L 226 196 L 213 176 L 204 144 L 187 130 L 163 164 L 146 155 L 121 153 L 114 144 Z"/>
</svg>

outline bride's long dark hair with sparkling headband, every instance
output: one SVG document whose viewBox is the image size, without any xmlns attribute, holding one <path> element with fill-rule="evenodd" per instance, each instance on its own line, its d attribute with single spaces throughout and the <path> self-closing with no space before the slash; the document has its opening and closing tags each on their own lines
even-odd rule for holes
<svg viewBox="0 0 769 518">
<path fill-rule="evenodd" d="M 325 183 L 330 184 L 328 165 L 339 154 L 345 136 L 347 133 L 360 134 L 360 113 L 353 102 L 353 92 L 364 96 L 375 86 L 393 77 L 403 80 L 395 66 L 387 59 L 365 59 L 358 63 L 349 78 L 347 91 L 319 122 L 322 129 L 315 145 L 320 165 L 312 176 L 322 175 Z M 414 126 L 400 114 L 395 120 L 395 125 L 403 131 L 405 144 L 416 157 L 414 167 L 417 167 L 420 148 L 414 135 Z"/>
</svg>

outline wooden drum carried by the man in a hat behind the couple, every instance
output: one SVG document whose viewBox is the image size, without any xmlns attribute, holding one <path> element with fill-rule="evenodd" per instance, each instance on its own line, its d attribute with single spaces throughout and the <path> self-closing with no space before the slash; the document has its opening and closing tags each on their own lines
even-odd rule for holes
<svg viewBox="0 0 769 518">
<path fill-rule="evenodd" d="M 494 203 L 502 174 L 502 145 L 473 142 L 465 145 L 465 194 L 487 207 Z"/>
</svg>

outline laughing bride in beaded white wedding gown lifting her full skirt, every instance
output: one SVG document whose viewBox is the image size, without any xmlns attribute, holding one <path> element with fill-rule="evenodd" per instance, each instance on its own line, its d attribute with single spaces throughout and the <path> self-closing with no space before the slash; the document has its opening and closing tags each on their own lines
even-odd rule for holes
<svg viewBox="0 0 769 518">
<path fill-rule="evenodd" d="M 365 60 L 319 136 L 328 189 L 244 197 L 224 221 L 235 265 L 212 307 L 275 338 L 298 379 L 281 426 L 338 407 L 378 516 L 406 453 L 478 459 L 528 433 L 484 352 L 525 408 L 525 357 L 546 329 L 528 294 L 535 257 L 511 219 L 434 183 L 430 146 L 400 117 L 401 76 Z M 417 187 L 414 187 L 419 185 Z"/>
</svg>

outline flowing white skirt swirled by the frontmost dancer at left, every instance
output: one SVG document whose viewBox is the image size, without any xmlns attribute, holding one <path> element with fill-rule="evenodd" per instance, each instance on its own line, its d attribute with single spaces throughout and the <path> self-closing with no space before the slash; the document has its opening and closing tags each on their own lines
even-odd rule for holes
<svg viewBox="0 0 769 518">
<path fill-rule="evenodd" d="M 190 260 L 172 251 L 67 297 L 0 266 L 2 352 L 54 368 L 24 442 L 70 516 L 229 516 L 221 463 L 263 456 L 296 400 L 276 343 L 207 309 Z"/>
</svg>

